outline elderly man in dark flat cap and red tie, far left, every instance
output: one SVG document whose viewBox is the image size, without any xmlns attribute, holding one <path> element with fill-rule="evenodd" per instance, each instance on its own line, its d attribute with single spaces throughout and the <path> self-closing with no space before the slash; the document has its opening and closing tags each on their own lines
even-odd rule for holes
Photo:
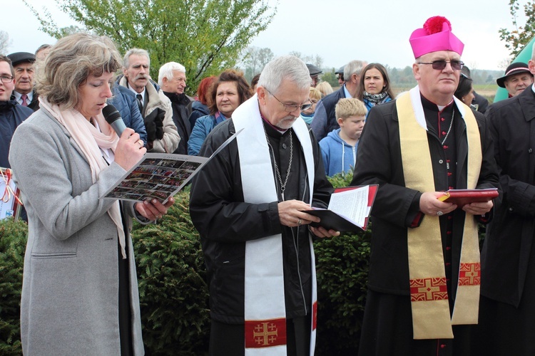
<svg viewBox="0 0 535 356">
<path fill-rule="evenodd" d="M 12 99 L 31 110 L 39 109 L 39 100 L 34 90 L 35 55 L 28 52 L 16 52 L 8 55 L 15 69 L 15 90 Z"/>
</svg>

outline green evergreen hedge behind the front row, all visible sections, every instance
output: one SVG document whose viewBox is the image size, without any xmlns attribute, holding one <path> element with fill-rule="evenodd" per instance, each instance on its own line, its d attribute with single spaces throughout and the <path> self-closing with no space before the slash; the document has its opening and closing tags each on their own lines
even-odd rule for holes
<svg viewBox="0 0 535 356">
<path fill-rule="evenodd" d="M 342 187 L 350 175 L 331 182 Z M 206 355 L 208 286 L 188 192 L 157 225 L 135 224 L 143 340 L 147 355 Z M 0 223 L 0 355 L 20 355 L 20 290 L 27 226 Z M 370 230 L 369 230 L 370 231 Z M 356 354 L 365 305 L 370 232 L 315 241 L 317 355 Z"/>
</svg>

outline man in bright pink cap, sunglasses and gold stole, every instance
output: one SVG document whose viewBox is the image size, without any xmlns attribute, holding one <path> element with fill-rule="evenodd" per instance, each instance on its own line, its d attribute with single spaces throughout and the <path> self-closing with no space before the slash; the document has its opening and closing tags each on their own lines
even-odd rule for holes
<svg viewBox="0 0 535 356">
<path fill-rule="evenodd" d="M 463 43 L 441 16 L 410 36 L 418 85 L 370 110 L 352 185 L 379 184 L 360 355 L 469 355 L 477 324 L 477 223 L 492 201 L 441 201 L 498 186 L 489 129 L 454 98 Z"/>
</svg>

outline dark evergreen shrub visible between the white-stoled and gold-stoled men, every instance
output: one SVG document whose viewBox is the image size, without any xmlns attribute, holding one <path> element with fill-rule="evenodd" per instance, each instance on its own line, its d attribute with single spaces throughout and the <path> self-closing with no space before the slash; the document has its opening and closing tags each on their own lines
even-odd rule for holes
<svg viewBox="0 0 535 356">
<path fill-rule="evenodd" d="M 329 178 L 335 188 L 352 174 Z M 357 355 L 367 293 L 371 224 L 367 231 L 314 243 L 317 273 L 316 355 Z"/>
</svg>

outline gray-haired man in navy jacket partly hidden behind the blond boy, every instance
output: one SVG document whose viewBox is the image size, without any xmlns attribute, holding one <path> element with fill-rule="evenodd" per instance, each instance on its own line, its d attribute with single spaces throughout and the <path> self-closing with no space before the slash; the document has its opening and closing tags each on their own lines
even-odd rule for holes
<svg viewBox="0 0 535 356">
<path fill-rule="evenodd" d="M 312 131 L 318 141 L 326 137 L 329 132 L 338 128 L 337 117 L 335 114 L 335 107 L 338 100 L 343 98 L 355 98 L 359 88 L 360 72 L 366 66 L 363 61 L 351 61 L 344 67 L 345 83 L 342 87 L 330 93 L 317 102 L 314 118 L 312 119 Z"/>
</svg>

